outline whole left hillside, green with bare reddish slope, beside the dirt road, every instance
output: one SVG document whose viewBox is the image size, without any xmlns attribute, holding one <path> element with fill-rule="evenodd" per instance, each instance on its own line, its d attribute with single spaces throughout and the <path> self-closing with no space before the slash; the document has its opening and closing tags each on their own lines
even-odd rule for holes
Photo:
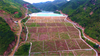
<svg viewBox="0 0 100 56">
<path fill-rule="evenodd" d="M 33 5 L 23 0 L 0 0 L 0 56 L 8 56 L 17 41 L 18 25 L 15 19 L 24 18 L 26 8 L 39 12 Z"/>
</svg>

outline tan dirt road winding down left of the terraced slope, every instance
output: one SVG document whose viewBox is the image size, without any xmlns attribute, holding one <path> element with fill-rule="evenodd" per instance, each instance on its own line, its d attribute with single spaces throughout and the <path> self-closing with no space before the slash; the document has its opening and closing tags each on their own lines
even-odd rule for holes
<svg viewBox="0 0 100 56">
<path fill-rule="evenodd" d="M 25 19 L 25 18 L 27 17 L 27 12 L 28 12 L 28 9 L 26 9 L 25 17 L 24 17 L 23 19 Z M 9 56 L 14 56 L 14 54 L 15 54 L 17 48 L 18 48 L 18 45 L 19 45 L 19 42 L 20 42 L 20 35 L 21 35 L 21 32 L 22 32 L 21 21 L 22 21 L 23 19 L 18 20 L 19 32 L 18 32 L 17 42 L 16 42 L 16 45 L 15 45 L 13 51 L 10 53 Z"/>
</svg>

